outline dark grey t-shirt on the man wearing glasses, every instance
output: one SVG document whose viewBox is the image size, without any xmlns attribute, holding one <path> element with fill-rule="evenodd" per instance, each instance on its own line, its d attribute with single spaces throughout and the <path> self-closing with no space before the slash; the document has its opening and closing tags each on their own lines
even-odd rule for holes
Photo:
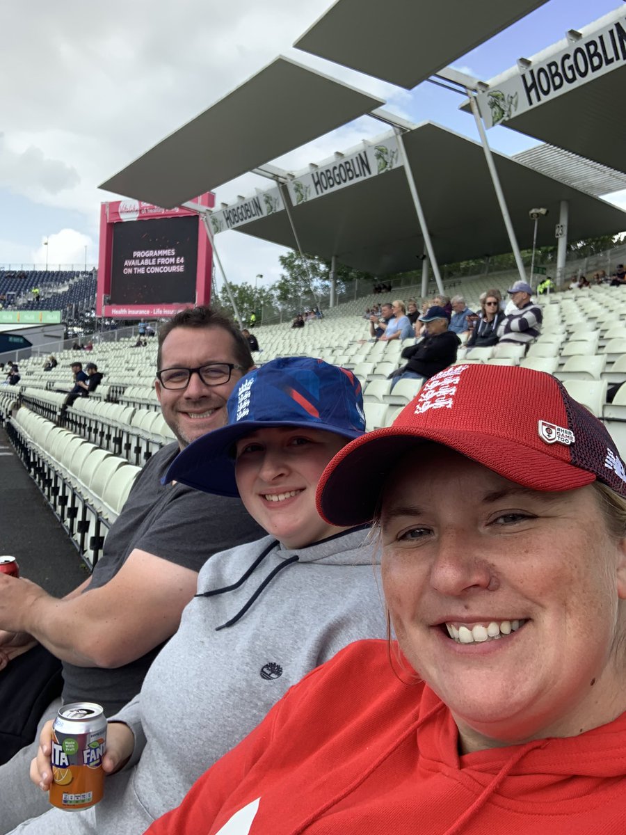
<svg viewBox="0 0 626 835">
<path fill-rule="evenodd" d="M 178 452 L 178 444 L 170 443 L 150 458 L 139 473 L 105 540 L 103 555 L 93 569 L 88 588 L 97 589 L 108 583 L 134 549 L 199 571 L 213 554 L 265 534 L 239 498 L 212 496 L 183 484 L 162 484 L 161 478 Z M 73 624 L 72 628 L 80 629 L 80 624 Z M 127 640 L 132 645 L 133 635 L 129 634 Z M 95 701 L 103 706 L 106 715 L 112 716 L 139 692 L 161 646 L 114 670 L 63 662 L 63 701 Z"/>
</svg>

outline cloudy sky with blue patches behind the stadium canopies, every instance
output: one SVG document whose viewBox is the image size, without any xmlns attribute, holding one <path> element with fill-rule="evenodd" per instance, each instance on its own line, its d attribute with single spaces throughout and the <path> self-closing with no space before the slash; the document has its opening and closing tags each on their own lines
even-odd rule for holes
<svg viewBox="0 0 626 835">
<path fill-rule="evenodd" d="M 417 2 L 417 0 L 414 0 Z M 433 0 L 421 0 L 433 2 Z M 477 0 L 480 2 L 480 0 Z M 135 157 L 229 93 L 278 54 L 319 67 L 291 44 L 331 0 L 4 0 L 0 67 L 0 264 L 98 260 L 98 212 L 114 195 L 98 190 Z M 384 13 L 384 2 L 381 13 Z M 549 0 L 536 12 L 460 58 L 455 66 L 491 78 L 622 7 L 619 0 Z M 419 49 L 416 33 L 416 49 Z M 472 139 L 459 96 L 423 83 L 411 93 L 326 64 L 325 71 L 386 99 L 414 122 L 431 119 Z M 253 127 L 253 126 L 252 126 Z M 298 169 L 381 133 L 364 117 L 278 160 Z M 507 154 L 534 143 L 514 131 L 489 132 Z M 269 161 L 269 160 L 268 160 Z M 218 201 L 250 194 L 248 175 L 217 190 Z M 626 207 L 624 195 L 618 196 Z M 217 240 L 230 280 L 265 283 L 280 274 L 280 247 L 231 231 Z M 85 252 L 85 247 L 86 252 Z"/>
</svg>

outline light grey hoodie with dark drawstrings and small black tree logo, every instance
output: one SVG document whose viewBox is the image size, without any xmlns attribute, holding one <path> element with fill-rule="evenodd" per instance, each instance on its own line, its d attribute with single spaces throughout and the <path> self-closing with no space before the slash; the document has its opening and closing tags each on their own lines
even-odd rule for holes
<svg viewBox="0 0 626 835">
<path fill-rule="evenodd" d="M 139 835 L 305 673 L 353 640 L 385 637 L 367 534 L 296 550 L 267 536 L 211 557 L 139 696 L 110 720 L 134 731 L 129 765 L 107 778 L 98 806 L 51 810 L 14 832 Z"/>
</svg>

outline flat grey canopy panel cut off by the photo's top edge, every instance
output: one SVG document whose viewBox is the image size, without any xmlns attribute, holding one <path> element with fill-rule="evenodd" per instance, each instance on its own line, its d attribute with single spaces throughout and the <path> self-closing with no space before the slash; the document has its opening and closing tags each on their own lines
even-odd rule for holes
<svg viewBox="0 0 626 835">
<path fill-rule="evenodd" d="M 337 0 L 294 46 L 412 89 L 546 2 Z"/>
</svg>

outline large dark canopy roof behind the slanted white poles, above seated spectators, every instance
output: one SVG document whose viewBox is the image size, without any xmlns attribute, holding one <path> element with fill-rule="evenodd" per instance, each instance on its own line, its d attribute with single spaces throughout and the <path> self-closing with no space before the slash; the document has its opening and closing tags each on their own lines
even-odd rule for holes
<svg viewBox="0 0 626 835">
<path fill-rule="evenodd" d="M 437 261 L 511 251 L 482 146 L 429 122 L 406 132 L 403 139 Z M 494 153 L 494 158 L 523 249 L 533 243 L 528 211 L 535 206 L 550 212 L 539 221 L 538 245 L 555 244 L 561 200 L 569 201 L 569 240 L 626 230 L 626 212 L 507 156 Z M 320 163 L 316 170 L 323 166 Z M 336 256 L 376 276 L 420 266 L 424 244 L 401 166 L 295 205 L 292 215 L 302 249 L 311 255 Z M 295 245 L 285 211 L 240 224 L 237 230 Z"/>
</svg>

